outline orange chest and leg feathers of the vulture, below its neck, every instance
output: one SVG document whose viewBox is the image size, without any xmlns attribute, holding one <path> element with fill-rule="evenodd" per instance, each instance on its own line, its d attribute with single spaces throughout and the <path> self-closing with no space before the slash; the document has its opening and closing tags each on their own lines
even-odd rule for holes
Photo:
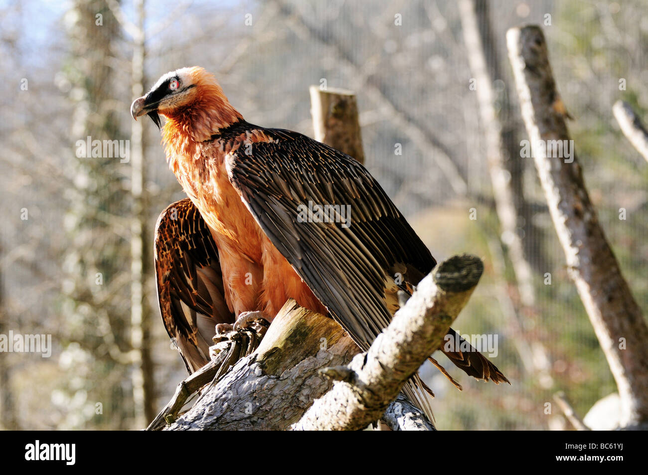
<svg viewBox="0 0 648 475">
<path fill-rule="evenodd" d="M 270 242 L 229 181 L 227 165 L 241 145 L 270 141 L 253 130 L 238 140 L 219 144 L 210 142 L 193 149 L 167 148 L 169 166 L 187 196 L 211 228 L 221 257 L 226 281 L 226 299 L 237 314 L 263 310 L 272 320 L 288 298 L 316 312 L 326 308 L 299 277 L 285 257 Z M 175 152 L 175 153 L 174 153 Z M 246 275 L 254 275 L 249 285 Z"/>
</svg>

